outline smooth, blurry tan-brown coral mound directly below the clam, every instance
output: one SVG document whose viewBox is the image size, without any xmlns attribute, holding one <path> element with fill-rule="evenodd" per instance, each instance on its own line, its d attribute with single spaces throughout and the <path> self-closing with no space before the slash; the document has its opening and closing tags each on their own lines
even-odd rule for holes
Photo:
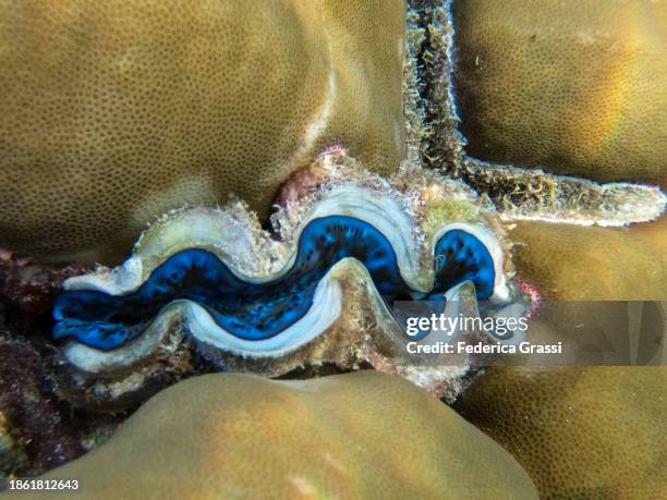
<svg viewBox="0 0 667 500">
<path fill-rule="evenodd" d="M 373 371 L 192 378 L 44 478 L 77 478 L 95 499 L 536 498 L 498 444 L 426 392 Z"/>
</svg>

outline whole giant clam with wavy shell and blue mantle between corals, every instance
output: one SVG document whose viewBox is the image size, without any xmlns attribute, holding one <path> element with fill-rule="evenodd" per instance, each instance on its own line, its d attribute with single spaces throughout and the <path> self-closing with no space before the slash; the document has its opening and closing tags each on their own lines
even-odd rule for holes
<svg viewBox="0 0 667 500">
<path fill-rule="evenodd" d="M 324 154 L 312 172 L 315 186 L 286 186 L 301 196 L 274 215 L 274 233 L 241 202 L 177 210 L 122 266 L 65 281 L 53 334 L 65 342 L 70 398 L 131 400 L 184 369 L 192 352 L 223 370 L 267 376 L 384 359 L 456 394 L 470 362 L 414 366 L 424 362 L 407 354 L 391 307 L 440 297 L 450 314 L 469 303 L 473 314 L 497 315 L 521 304 L 493 208 L 436 173 L 384 180 L 341 151 Z"/>
</svg>

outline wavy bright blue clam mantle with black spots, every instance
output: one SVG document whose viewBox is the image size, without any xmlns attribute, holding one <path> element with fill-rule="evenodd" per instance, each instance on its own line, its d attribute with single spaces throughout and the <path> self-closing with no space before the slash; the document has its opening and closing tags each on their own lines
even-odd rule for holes
<svg viewBox="0 0 667 500">
<path fill-rule="evenodd" d="M 293 266 L 271 281 L 243 280 L 215 254 L 189 248 L 170 256 L 130 293 L 64 291 L 53 309 L 53 337 L 113 350 L 141 336 L 165 306 L 185 300 L 204 307 L 231 336 L 247 341 L 270 339 L 306 315 L 319 281 L 347 257 L 366 267 L 387 304 L 405 296 L 427 300 L 468 280 L 478 300 L 494 293 L 494 259 L 470 232 L 451 229 L 436 242 L 434 285 L 424 294 L 408 286 L 396 252 L 380 231 L 338 215 L 311 220 L 301 233 Z"/>
</svg>

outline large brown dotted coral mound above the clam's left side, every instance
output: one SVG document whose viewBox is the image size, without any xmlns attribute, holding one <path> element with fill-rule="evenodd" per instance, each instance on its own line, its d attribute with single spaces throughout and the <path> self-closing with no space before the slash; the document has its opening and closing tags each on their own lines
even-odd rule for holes
<svg viewBox="0 0 667 500">
<path fill-rule="evenodd" d="M 184 204 L 266 212 L 332 144 L 396 170 L 403 32 L 398 0 L 0 2 L 0 244 L 118 261 Z"/>
</svg>

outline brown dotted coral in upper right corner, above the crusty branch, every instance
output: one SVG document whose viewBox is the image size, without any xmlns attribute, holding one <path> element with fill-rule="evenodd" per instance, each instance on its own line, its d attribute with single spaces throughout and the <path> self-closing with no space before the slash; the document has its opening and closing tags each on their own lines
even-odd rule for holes
<svg viewBox="0 0 667 500">
<path fill-rule="evenodd" d="M 453 2 L 473 157 L 665 184 L 667 4 Z"/>
</svg>

